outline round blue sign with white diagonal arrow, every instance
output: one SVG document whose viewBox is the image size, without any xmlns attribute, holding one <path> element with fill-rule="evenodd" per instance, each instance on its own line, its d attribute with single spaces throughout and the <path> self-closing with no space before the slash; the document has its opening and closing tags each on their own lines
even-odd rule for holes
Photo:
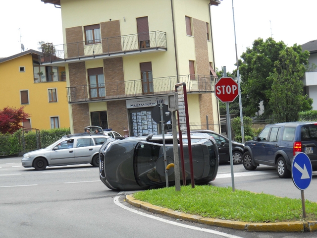
<svg viewBox="0 0 317 238">
<path fill-rule="evenodd" d="M 312 163 L 309 157 L 303 153 L 297 153 L 292 161 L 292 179 L 295 186 L 300 190 L 308 188 L 312 181 Z"/>
</svg>

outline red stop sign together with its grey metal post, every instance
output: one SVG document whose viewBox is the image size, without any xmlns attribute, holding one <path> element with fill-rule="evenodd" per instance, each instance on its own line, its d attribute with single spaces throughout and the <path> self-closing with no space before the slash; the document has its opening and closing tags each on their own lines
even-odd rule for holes
<svg viewBox="0 0 317 238">
<path fill-rule="evenodd" d="M 226 73 L 225 75 L 226 76 Z M 231 124 L 230 124 L 230 112 L 229 103 L 233 102 L 238 96 L 238 84 L 231 77 L 220 78 L 214 85 L 215 96 L 223 103 L 226 103 L 227 110 L 227 131 L 229 139 L 229 157 L 231 168 L 231 183 L 232 191 L 234 191 L 234 176 L 233 176 L 233 159 L 232 159 L 232 142 L 231 142 Z"/>
</svg>

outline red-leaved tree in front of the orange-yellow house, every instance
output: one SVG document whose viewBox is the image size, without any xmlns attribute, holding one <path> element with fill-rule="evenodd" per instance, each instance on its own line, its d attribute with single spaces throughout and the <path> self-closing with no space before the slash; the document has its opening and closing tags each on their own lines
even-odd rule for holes
<svg viewBox="0 0 317 238">
<path fill-rule="evenodd" d="M 19 109 L 6 107 L 0 110 L 0 132 L 2 134 L 13 134 L 23 126 L 21 122 L 26 121 L 30 114 L 24 112 L 24 107 Z"/>
</svg>

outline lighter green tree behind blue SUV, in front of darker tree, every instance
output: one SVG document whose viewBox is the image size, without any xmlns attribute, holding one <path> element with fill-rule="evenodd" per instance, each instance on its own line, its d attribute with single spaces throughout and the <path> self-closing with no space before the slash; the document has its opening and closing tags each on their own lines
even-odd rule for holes
<svg viewBox="0 0 317 238">
<path fill-rule="evenodd" d="M 286 47 L 275 61 L 268 81 L 272 82 L 269 107 L 275 121 L 297 121 L 303 109 L 312 109 L 312 99 L 303 95 L 303 82 L 309 52 L 302 53 L 300 46 Z M 306 111 L 307 111 L 306 110 Z"/>
</svg>

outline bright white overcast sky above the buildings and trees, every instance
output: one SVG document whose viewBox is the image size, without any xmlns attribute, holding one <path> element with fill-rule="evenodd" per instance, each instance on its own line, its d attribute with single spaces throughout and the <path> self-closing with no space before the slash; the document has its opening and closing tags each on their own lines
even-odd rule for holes
<svg viewBox="0 0 317 238">
<path fill-rule="evenodd" d="M 316 40 L 316 9 L 317 0 L 221 0 L 211 7 L 216 67 L 232 72 L 235 45 L 240 58 L 258 38 L 272 36 L 288 46 Z M 41 0 L 1 0 L 0 26 L 0 58 L 21 53 L 20 39 L 25 50 L 38 50 L 39 41 L 63 44 L 60 9 Z"/>
</svg>

